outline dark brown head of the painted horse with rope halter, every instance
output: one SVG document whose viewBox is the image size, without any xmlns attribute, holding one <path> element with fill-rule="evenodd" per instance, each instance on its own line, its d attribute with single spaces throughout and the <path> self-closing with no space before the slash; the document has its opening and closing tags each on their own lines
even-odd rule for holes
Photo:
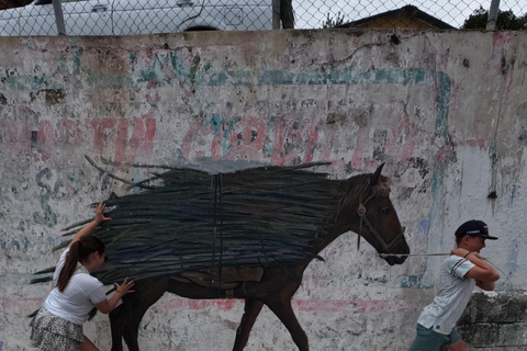
<svg viewBox="0 0 527 351">
<path fill-rule="evenodd" d="M 348 217 L 347 229 L 365 238 L 379 253 L 393 253 L 385 257 L 386 262 L 393 265 L 406 260 L 410 247 L 390 200 L 392 182 L 388 177 L 381 176 L 383 166 L 384 163 L 373 174 L 348 179 L 348 201 L 344 202 L 338 217 Z"/>
</svg>

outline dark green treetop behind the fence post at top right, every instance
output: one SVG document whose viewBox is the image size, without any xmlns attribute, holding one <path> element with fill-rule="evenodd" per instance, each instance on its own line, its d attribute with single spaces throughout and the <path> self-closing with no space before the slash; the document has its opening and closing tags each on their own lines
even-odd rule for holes
<svg viewBox="0 0 527 351">
<path fill-rule="evenodd" d="M 480 7 L 467 20 L 464 20 L 461 30 L 484 30 L 489 21 L 489 11 Z M 512 10 L 498 11 L 496 19 L 496 30 L 498 31 L 517 31 L 525 29 L 527 23 L 527 14 L 518 18 Z"/>
</svg>

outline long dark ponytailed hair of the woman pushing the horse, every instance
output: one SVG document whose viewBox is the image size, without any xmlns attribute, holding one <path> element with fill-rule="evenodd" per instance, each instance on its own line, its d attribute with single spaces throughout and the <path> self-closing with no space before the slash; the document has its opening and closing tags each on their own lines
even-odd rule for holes
<svg viewBox="0 0 527 351">
<path fill-rule="evenodd" d="M 86 261 L 93 252 L 104 253 L 104 244 L 102 244 L 100 239 L 92 236 L 82 237 L 71 244 L 69 247 L 69 252 L 66 254 L 64 267 L 60 270 L 60 274 L 58 274 L 58 291 L 60 293 L 64 292 L 66 285 L 68 285 L 71 275 L 74 275 L 74 272 L 77 269 L 77 262 Z"/>
</svg>

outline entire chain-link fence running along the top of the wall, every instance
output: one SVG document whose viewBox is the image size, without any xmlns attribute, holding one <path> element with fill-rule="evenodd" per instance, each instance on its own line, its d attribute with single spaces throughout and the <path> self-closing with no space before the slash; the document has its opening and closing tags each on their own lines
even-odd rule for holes
<svg viewBox="0 0 527 351">
<path fill-rule="evenodd" d="M 57 35 L 55 19 L 60 12 L 63 34 L 131 35 L 258 31 L 278 29 L 280 23 L 285 29 L 461 29 L 470 18 L 484 25 L 491 7 L 490 0 L 61 0 L 54 9 L 52 0 L 26 5 L 18 1 L 25 0 L 0 0 L 0 9 L 10 8 L 0 10 L 1 36 Z M 502 0 L 500 11 L 519 26 L 527 22 L 527 0 Z"/>
</svg>

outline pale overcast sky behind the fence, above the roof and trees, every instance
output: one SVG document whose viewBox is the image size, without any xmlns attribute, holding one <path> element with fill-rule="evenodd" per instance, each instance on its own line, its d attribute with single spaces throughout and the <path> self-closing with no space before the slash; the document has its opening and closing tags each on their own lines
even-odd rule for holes
<svg viewBox="0 0 527 351">
<path fill-rule="evenodd" d="M 340 14 L 345 15 L 344 22 L 350 22 L 407 4 L 413 4 L 442 22 L 460 27 L 480 5 L 485 10 L 490 9 L 491 0 L 293 0 L 296 21 L 294 27 L 319 29 L 328 12 L 335 18 L 340 11 Z M 527 0 L 501 0 L 500 10 L 513 10 L 514 14 L 524 15 L 527 12 Z"/>
</svg>

